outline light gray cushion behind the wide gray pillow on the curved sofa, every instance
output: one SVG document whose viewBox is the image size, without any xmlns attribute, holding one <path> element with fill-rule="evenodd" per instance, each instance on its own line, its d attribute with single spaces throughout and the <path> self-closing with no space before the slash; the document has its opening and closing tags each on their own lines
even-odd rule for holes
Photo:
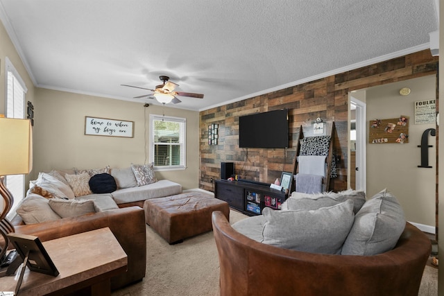
<svg viewBox="0 0 444 296">
<path fill-rule="evenodd" d="M 353 212 L 357 214 L 364 202 L 366 202 L 366 193 L 364 193 L 364 191 L 357 191 L 352 189 L 339 191 L 338 193 L 324 192 L 308 194 L 293 192 L 291 194 L 291 197 L 282 203 L 281 209 L 313 210 L 320 209 L 321 207 L 331 207 L 334 204 L 345 202 L 345 200 L 353 201 Z"/>
</svg>

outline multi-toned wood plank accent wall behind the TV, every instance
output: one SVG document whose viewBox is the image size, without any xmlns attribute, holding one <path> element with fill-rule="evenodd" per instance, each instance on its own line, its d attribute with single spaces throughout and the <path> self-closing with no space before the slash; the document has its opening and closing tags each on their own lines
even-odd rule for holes
<svg viewBox="0 0 444 296">
<path fill-rule="evenodd" d="M 221 162 L 234 162 L 235 173 L 248 180 L 272 183 L 282 171 L 293 171 L 299 127 L 309 129 L 317 117 L 336 126 L 334 150 L 341 157 L 338 177 L 330 180 L 330 189 L 347 189 L 348 93 L 376 85 L 432 75 L 438 69 L 438 57 L 429 50 L 404 55 L 367 67 L 339 73 L 277 92 L 255 96 L 236 103 L 200 112 L 199 188 L 214 191 L 211 179 L 220 178 Z M 437 98 L 438 99 L 438 98 Z M 289 148 L 239 148 L 239 116 L 289 109 Z M 218 145 L 208 145 L 208 125 L 219 124 Z"/>
</svg>

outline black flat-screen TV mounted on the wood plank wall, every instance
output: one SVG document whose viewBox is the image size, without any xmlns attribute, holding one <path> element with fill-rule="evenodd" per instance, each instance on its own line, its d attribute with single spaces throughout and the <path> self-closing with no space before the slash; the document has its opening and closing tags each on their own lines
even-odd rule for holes
<svg viewBox="0 0 444 296">
<path fill-rule="evenodd" d="M 288 148 L 288 110 L 239 116 L 239 148 Z"/>
</svg>

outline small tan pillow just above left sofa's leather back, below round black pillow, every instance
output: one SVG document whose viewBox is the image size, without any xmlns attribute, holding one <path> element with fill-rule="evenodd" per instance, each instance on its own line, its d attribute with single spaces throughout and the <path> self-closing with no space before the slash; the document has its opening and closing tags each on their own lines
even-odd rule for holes
<svg viewBox="0 0 444 296">
<path fill-rule="evenodd" d="M 89 213 L 95 213 L 92 200 L 49 200 L 49 207 L 60 217 L 78 217 Z"/>
</svg>

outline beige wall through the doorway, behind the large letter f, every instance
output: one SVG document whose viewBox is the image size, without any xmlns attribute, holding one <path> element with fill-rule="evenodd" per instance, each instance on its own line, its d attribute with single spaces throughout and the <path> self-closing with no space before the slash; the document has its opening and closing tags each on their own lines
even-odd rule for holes
<svg viewBox="0 0 444 296">
<path fill-rule="evenodd" d="M 401 96 L 399 90 L 409 87 L 411 93 Z M 436 97 L 436 77 L 426 76 L 403 82 L 373 87 L 366 92 L 367 131 L 372 119 L 409 116 L 409 143 L 368 143 L 367 195 L 371 197 L 384 188 L 400 201 L 407 220 L 435 227 L 436 199 L 436 137 L 429 136 L 429 166 L 421 164 L 422 132 L 436 128 L 435 123 L 414 124 L 414 102 Z"/>
</svg>

